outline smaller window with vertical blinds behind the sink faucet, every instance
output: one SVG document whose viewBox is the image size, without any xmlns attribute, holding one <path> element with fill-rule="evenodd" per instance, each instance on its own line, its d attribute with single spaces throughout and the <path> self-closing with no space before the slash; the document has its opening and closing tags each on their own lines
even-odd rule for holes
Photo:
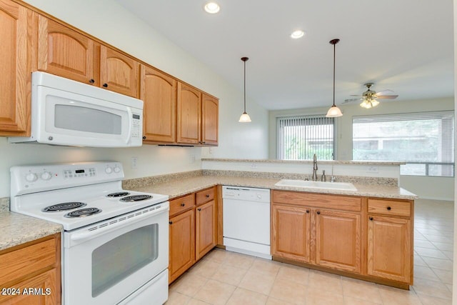
<svg viewBox="0 0 457 305">
<path fill-rule="evenodd" d="M 333 160 L 334 119 L 325 116 L 278 118 L 277 156 L 282 160 Z"/>
</svg>

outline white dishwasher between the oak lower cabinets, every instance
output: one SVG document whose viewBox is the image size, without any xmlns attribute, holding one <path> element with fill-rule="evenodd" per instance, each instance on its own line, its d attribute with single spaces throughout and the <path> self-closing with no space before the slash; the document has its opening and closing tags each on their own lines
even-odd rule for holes
<svg viewBox="0 0 457 305">
<path fill-rule="evenodd" d="M 270 190 L 222 186 L 226 250 L 271 259 Z"/>
</svg>

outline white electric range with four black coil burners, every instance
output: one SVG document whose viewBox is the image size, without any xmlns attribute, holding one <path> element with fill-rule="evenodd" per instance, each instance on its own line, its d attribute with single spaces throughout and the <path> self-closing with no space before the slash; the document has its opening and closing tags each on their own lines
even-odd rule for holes
<svg viewBox="0 0 457 305">
<path fill-rule="evenodd" d="M 64 227 L 65 305 L 168 299 L 169 197 L 122 179 L 116 161 L 11 167 L 11 211 Z"/>
</svg>

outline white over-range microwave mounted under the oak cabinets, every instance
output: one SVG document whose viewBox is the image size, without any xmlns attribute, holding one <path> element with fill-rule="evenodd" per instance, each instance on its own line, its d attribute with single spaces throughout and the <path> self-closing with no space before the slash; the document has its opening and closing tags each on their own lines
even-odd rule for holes
<svg viewBox="0 0 457 305">
<path fill-rule="evenodd" d="M 10 143 L 141 146 L 143 101 L 41 71 L 31 77 L 31 136 Z"/>
</svg>

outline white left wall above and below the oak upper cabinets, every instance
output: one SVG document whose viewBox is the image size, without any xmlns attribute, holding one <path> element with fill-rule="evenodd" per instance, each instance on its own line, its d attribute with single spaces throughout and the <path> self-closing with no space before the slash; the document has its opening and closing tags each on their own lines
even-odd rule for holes
<svg viewBox="0 0 457 305">
<path fill-rule="evenodd" d="M 129 149 L 90 149 L 9 144 L 0 137 L 0 198 L 9 196 L 9 168 L 18 164 L 116 160 L 124 164 L 126 178 L 169 174 L 201 169 L 201 154 L 237 158 L 266 158 L 268 112 L 248 99 L 246 108 L 253 123 L 238 123 L 243 110 L 243 92 L 161 36 L 143 21 L 111 0 L 27 0 L 41 11 L 55 16 L 102 41 L 126 51 L 157 68 L 219 97 L 219 147 L 183 148 L 145 145 Z M 238 63 L 239 59 L 233 59 Z M 239 63 L 238 63 L 239 64 Z M 240 64 L 242 77 L 242 64 Z M 242 79 L 240 79 L 242 81 Z M 241 84 L 241 83 L 240 83 Z M 240 86 L 241 88 L 241 86 Z M 138 168 L 130 168 L 132 156 Z M 195 156 L 196 161 L 192 161 Z"/>
</svg>

